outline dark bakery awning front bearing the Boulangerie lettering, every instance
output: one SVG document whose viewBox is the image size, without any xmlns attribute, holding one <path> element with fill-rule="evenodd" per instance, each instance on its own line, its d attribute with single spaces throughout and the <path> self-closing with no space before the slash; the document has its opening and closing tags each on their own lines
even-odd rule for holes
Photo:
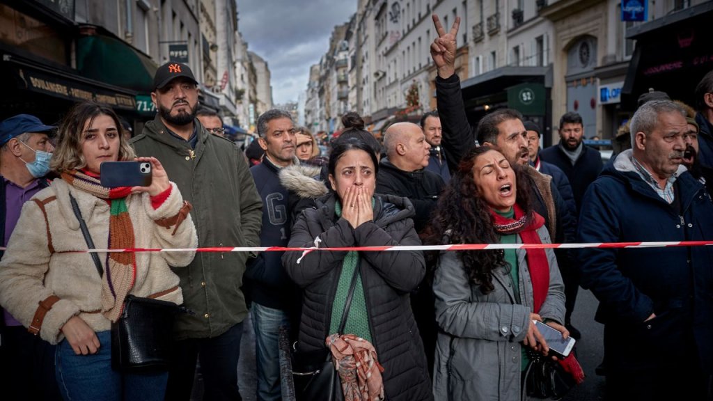
<svg viewBox="0 0 713 401">
<path fill-rule="evenodd" d="M 94 101 L 117 111 L 135 111 L 134 91 L 94 81 L 71 68 L 39 64 L 11 52 L 3 52 L 0 71 L 15 89 L 61 98 L 66 101 Z"/>
</svg>

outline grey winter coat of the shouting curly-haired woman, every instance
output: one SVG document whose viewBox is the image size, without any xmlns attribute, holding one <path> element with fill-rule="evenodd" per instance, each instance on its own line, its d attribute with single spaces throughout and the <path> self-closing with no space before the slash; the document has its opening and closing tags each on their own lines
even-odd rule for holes
<svg viewBox="0 0 713 401">
<path fill-rule="evenodd" d="M 545 226 L 537 230 L 550 243 Z M 517 243 L 522 243 L 520 235 Z M 495 289 L 484 295 L 455 252 L 443 252 L 434 278 L 438 342 L 434 367 L 436 400 L 520 400 L 520 342 L 525 339 L 533 288 L 525 250 L 517 250 L 520 300 L 505 268 L 493 272 Z M 540 308 L 543 319 L 564 321 L 565 293 L 555 253 L 545 249 L 550 288 Z"/>
</svg>

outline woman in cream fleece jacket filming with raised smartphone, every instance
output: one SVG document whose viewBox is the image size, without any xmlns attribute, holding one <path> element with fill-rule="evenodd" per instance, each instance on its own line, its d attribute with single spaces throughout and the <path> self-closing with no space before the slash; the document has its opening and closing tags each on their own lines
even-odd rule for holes
<svg viewBox="0 0 713 401">
<path fill-rule="evenodd" d="M 151 164 L 146 187 L 105 188 L 104 161 Z M 183 303 L 178 276 L 194 253 L 100 253 L 93 263 L 72 198 L 98 249 L 195 248 L 195 225 L 178 187 L 155 158 L 134 158 L 111 108 L 80 103 L 58 131 L 51 160 L 60 176 L 29 200 L 0 262 L 0 304 L 58 344 L 55 369 L 66 400 L 163 400 L 168 372 L 111 369 L 111 323 L 127 295 Z M 80 252 L 77 252 L 80 251 Z"/>
</svg>

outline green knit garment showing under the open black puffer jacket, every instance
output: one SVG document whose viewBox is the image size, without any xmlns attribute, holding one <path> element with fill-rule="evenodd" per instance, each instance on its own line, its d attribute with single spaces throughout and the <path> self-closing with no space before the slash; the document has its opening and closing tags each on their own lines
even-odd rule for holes
<svg viewBox="0 0 713 401">
<path fill-rule="evenodd" d="M 371 200 L 372 205 L 374 200 Z M 342 204 L 334 204 L 334 212 L 337 217 L 342 217 Z M 356 264 L 359 262 L 359 253 L 350 251 L 344 257 L 342 262 L 342 274 L 339 275 L 339 283 L 337 284 L 337 293 L 334 295 L 332 303 L 332 320 L 329 324 L 329 334 L 337 333 L 339 323 L 342 323 L 342 313 L 344 313 L 344 304 L 347 303 L 347 295 L 349 295 L 349 285 L 352 284 L 352 277 Z M 356 285 L 354 286 L 354 296 L 352 305 L 349 308 L 347 316 L 347 324 L 344 326 L 344 333 L 339 334 L 354 334 L 364 340 L 371 342 L 371 328 L 369 328 L 369 313 L 366 311 L 366 298 L 364 297 L 364 287 L 361 285 L 361 275 L 356 277 Z"/>
</svg>

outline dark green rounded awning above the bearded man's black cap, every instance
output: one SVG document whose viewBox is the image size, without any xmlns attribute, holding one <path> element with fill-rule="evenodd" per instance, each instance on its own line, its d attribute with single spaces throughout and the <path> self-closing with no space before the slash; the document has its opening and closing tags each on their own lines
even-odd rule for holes
<svg viewBox="0 0 713 401">
<path fill-rule="evenodd" d="M 138 49 L 101 26 L 80 26 L 77 39 L 77 71 L 87 78 L 138 93 L 153 90 L 158 66 Z"/>
</svg>

